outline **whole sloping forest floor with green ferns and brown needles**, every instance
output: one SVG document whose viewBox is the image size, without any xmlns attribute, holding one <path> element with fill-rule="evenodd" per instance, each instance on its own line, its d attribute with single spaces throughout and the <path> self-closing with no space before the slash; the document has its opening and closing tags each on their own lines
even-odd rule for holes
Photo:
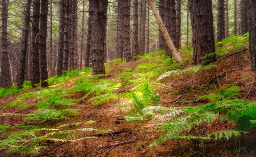
<svg viewBox="0 0 256 157">
<path fill-rule="evenodd" d="M 217 61 L 164 51 L 67 71 L 48 88 L 0 89 L 1 156 L 255 156 L 248 34 L 216 42 Z"/>
</svg>

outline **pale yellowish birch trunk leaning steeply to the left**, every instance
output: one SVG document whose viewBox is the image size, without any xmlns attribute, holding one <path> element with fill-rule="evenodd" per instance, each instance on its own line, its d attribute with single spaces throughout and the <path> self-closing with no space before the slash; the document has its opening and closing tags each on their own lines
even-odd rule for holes
<svg viewBox="0 0 256 157">
<path fill-rule="evenodd" d="M 168 47 L 171 50 L 173 58 L 177 62 L 180 62 L 181 61 L 180 55 L 177 53 L 177 50 L 176 50 L 175 46 L 172 43 L 172 39 L 170 38 L 168 32 L 166 31 L 166 27 L 165 27 L 161 17 L 159 16 L 159 13 L 156 10 L 156 5 L 154 3 L 154 0 L 148 0 L 148 3 L 150 5 L 150 7 L 151 7 L 151 10 L 153 11 L 153 14 L 154 14 L 154 16 L 156 18 L 156 21 L 157 21 L 158 25 L 159 25 L 162 33 L 163 33 L 164 39 L 167 42 L 167 45 L 168 45 Z"/>
</svg>

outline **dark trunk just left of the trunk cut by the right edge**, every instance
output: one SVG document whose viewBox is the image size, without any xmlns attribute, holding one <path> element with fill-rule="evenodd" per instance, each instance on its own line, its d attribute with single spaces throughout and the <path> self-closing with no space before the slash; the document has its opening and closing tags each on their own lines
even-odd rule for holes
<svg viewBox="0 0 256 157">
<path fill-rule="evenodd" d="M 248 18 L 247 18 L 247 7 L 246 0 L 241 0 L 241 33 L 244 35 L 248 32 Z"/>
</svg>

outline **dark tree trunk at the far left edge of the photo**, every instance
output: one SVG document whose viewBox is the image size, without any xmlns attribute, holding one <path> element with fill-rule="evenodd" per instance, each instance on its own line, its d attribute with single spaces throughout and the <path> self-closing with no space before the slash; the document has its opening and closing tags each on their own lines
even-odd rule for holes
<svg viewBox="0 0 256 157">
<path fill-rule="evenodd" d="M 6 88 L 11 86 L 11 69 L 8 57 L 7 42 L 7 19 L 8 19 L 9 0 L 2 0 L 2 66 L 0 74 L 0 87 Z M 23 76 L 24 77 L 24 76 Z"/>
</svg>

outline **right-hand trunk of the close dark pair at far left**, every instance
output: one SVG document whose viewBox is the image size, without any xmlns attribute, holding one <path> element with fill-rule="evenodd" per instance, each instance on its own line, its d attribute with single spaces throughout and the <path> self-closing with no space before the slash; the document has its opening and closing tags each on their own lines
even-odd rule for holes
<svg viewBox="0 0 256 157">
<path fill-rule="evenodd" d="M 41 0 L 41 16 L 40 16 L 40 66 L 41 66 L 41 86 L 47 87 L 48 79 L 47 62 L 46 62 L 46 37 L 47 37 L 47 16 L 48 16 L 48 0 Z"/>
</svg>

